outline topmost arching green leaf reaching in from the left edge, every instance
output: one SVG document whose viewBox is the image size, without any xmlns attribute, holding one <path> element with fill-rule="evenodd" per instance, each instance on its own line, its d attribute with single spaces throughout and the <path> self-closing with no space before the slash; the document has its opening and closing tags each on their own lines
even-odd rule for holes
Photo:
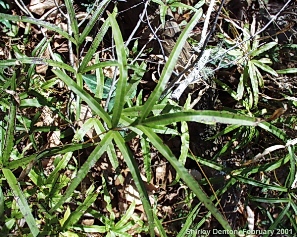
<svg viewBox="0 0 297 237">
<path fill-rule="evenodd" d="M 46 21 L 41 21 L 36 18 L 27 17 L 27 16 L 13 16 L 13 15 L 4 14 L 4 13 L 0 13 L 0 20 L 9 20 L 9 21 L 15 21 L 15 22 L 19 22 L 19 21 L 20 22 L 28 22 L 28 23 L 31 23 L 34 25 L 43 26 L 48 30 L 57 32 L 58 34 L 65 37 L 66 39 L 70 40 L 72 43 L 77 44 L 76 40 L 73 37 L 71 37 L 66 31 L 64 31 L 60 27 L 58 27 L 54 24 L 48 23 Z"/>
</svg>

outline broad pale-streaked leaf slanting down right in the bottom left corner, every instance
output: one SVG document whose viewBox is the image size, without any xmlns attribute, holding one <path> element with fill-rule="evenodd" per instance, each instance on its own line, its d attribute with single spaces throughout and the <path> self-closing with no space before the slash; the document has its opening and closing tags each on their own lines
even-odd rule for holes
<svg viewBox="0 0 297 237">
<path fill-rule="evenodd" d="M 32 211 L 27 203 L 26 197 L 24 196 L 22 190 L 19 187 L 19 183 L 16 177 L 9 169 L 2 169 L 5 179 L 7 180 L 9 187 L 11 188 L 14 198 L 23 214 L 32 235 L 35 237 L 39 234 L 38 227 L 36 225 L 35 219 L 32 215 Z"/>
</svg>

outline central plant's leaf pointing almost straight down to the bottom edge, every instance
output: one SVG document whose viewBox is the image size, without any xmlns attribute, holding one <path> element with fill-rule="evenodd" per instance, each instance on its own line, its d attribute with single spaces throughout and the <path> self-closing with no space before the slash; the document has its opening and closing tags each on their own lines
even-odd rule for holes
<svg viewBox="0 0 297 237">
<path fill-rule="evenodd" d="M 146 188 L 145 188 L 143 181 L 140 177 L 140 173 L 139 173 L 140 171 L 138 169 L 138 165 L 136 164 L 135 159 L 132 157 L 131 153 L 129 152 L 129 150 L 125 144 L 125 141 L 119 132 L 114 132 L 114 140 L 115 140 L 115 143 L 117 144 L 117 146 L 119 147 L 121 153 L 123 154 L 124 160 L 131 172 L 133 181 L 135 182 L 135 185 L 139 192 L 140 200 L 143 204 L 143 208 L 144 208 L 145 213 L 148 218 L 150 235 L 153 237 L 153 236 L 155 236 L 154 217 L 153 217 L 152 208 L 151 208 L 151 204 L 149 201 L 149 197 L 148 197 Z"/>
</svg>

